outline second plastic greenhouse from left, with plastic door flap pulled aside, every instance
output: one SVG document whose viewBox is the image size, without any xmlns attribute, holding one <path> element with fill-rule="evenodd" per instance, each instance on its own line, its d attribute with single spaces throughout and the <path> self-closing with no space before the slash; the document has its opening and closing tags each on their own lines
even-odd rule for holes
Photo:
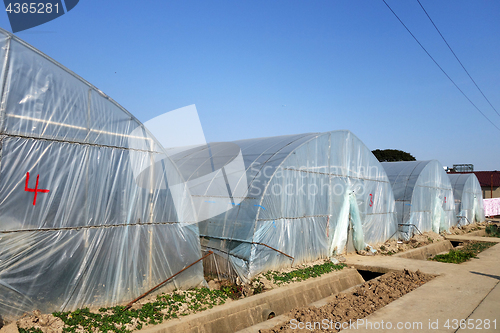
<svg viewBox="0 0 500 333">
<path fill-rule="evenodd" d="M 172 156 L 200 219 L 205 269 L 262 271 L 365 250 L 396 231 L 384 169 L 351 132 L 211 143 Z"/>
</svg>

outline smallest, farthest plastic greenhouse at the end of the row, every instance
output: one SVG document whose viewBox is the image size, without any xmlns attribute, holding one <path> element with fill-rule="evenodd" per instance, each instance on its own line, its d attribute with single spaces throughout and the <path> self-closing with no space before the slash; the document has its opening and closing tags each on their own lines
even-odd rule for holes
<svg viewBox="0 0 500 333">
<path fill-rule="evenodd" d="M 455 212 L 461 225 L 484 221 L 483 192 L 473 173 L 448 174 L 455 197 Z"/>
</svg>

